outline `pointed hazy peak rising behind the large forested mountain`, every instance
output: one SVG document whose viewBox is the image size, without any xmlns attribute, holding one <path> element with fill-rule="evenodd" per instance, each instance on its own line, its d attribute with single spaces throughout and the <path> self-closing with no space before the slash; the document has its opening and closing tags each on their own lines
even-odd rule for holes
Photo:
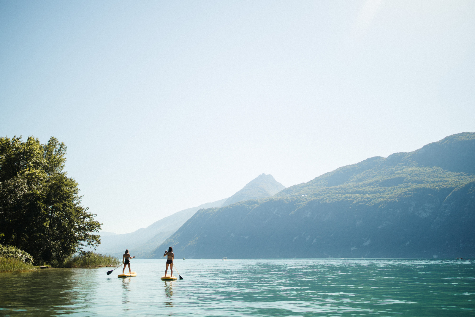
<svg viewBox="0 0 475 317">
<path fill-rule="evenodd" d="M 247 201 L 249 199 L 271 197 L 284 188 L 285 186 L 278 183 L 272 175 L 262 173 L 247 183 L 240 191 L 229 197 L 223 203 L 223 206 L 228 206 L 235 202 Z"/>
</svg>

